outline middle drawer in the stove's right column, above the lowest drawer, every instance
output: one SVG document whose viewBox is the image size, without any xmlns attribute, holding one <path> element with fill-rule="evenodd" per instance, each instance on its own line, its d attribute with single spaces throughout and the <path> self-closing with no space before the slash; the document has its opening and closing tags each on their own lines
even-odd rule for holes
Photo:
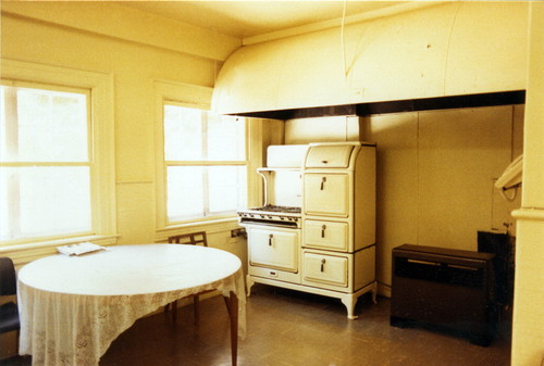
<svg viewBox="0 0 544 366">
<path fill-rule="evenodd" d="M 305 220 L 304 247 L 346 252 L 348 249 L 347 223 Z"/>
</svg>

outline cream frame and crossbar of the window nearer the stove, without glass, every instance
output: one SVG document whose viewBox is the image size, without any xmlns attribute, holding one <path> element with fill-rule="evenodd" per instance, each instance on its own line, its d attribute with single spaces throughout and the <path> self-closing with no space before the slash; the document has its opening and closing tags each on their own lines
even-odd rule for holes
<svg viewBox="0 0 544 366">
<path fill-rule="evenodd" d="M 156 104 L 156 179 L 157 179 L 157 232 L 158 240 L 162 240 L 165 231 L 177 230 L 184 227 L 200 227 L 202 225 L 226 225 L 232 226 L 236 222 L 236 214 L 211 215 L 205 217 L 187 218 L 184 220 L 170 222 L 168 217 L 168 166 L 245 166 L 246 187 L 249 190 L 249 156 L 250 156 L 250 124 L 245 118 L 245 151 L 244 161 L 172 161 L 169 165 L 164 156 L 164 105 L 178 105 L 202 111 L 209 111 L 211 106 L 212 88 L 195 86 L 169 80 L 156 80 L 154 83 Z M 247 197 L 246 197 L 247 199 Z"/>
</svg>

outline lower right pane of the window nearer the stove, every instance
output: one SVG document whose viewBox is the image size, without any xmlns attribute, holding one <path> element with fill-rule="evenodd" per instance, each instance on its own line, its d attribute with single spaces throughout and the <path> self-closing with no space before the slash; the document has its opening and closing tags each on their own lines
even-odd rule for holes
<svg viewBox="0 0 544 366">
<path fill-rule="evenodd" d="M 246 167 L 208 167 L 210 214 L 233 213 L 246 205 Z"/>
</svg>

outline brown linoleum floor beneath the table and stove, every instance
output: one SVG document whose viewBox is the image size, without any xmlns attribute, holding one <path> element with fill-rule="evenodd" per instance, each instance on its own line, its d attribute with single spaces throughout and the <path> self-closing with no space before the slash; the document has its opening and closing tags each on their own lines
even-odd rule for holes
<svg viewBox="0 0 544 366">
<path fill-rule="evenodd" d="M 390 300 L 361 298 L 357 320 L 339 300 L 256 285 L 247 303 L 247 338 L 240 366 L 508 366 L 510 343 L 499 335 L 489 348 L 453 333 L 390 326 Z M 28 358 L 4 361 L 27 366 Z M 0 364 L 3 365 L 2 362 Z M 165 314 L 139 319 L 121 335 L 100 366 L 231 365 L 228 319 L 221 298 L 201 301 L 200 325 L 191 307 L 177 326 Z"/>
</svg>

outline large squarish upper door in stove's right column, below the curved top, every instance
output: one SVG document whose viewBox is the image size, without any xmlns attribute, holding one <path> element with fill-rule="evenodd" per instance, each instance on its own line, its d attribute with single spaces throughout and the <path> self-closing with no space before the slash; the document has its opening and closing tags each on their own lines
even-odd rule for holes
<svg viewBox="0 0 544 366">
<path fill-rule="evenodd" d="M 347 217 L 349 213 L 349 176 L 347 174 L 305 175 L 304 203 L 307 215 Z"/>
</svg>

